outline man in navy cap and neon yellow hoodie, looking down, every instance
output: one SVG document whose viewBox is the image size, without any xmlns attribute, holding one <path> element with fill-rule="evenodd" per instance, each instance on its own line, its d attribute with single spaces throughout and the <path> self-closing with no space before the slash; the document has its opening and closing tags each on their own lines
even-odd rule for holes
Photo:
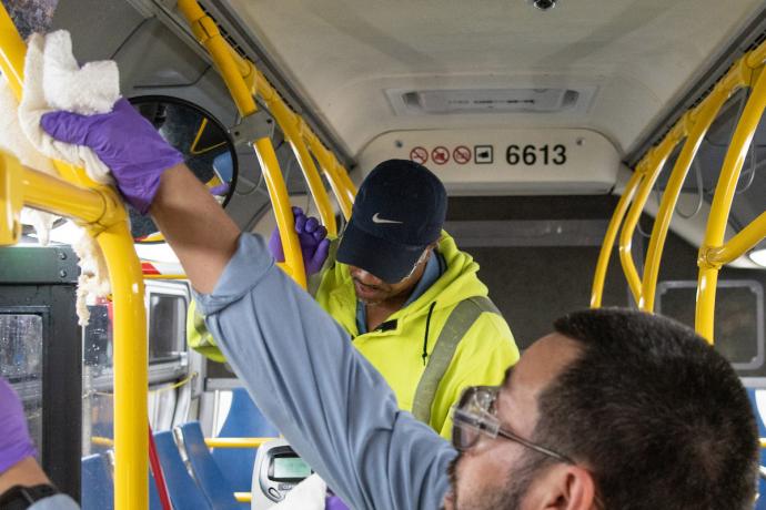
<svg viewBox="0 0 766 510">
<path fill-rule="evenodd" d="M 500 384 L 518 349 L 478 279 L 478 264 L 442 230 L 446 203 L 444 185 L 429 169 L 389 160 L 360 186 L 343 236 L 330 249 L 316 218 L 298 207 L 293 215 L 320 306 L 383 375 L 400 407 L 448 439 L 450 407 L 461 392 Z M 269 248 L 284 261 L 279 231 Z M 194 307 L 190 317 L 189 345 L 224 360 Z"/>
</svg>

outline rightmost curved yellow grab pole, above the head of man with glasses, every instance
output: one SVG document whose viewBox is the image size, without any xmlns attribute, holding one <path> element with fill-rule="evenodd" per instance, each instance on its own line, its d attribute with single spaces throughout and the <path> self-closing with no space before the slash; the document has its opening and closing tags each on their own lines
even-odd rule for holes
<svg viewBox="0 0 766 510">
<path fill-rule="evenodd" d="M 747 55 L 745 55 L 745 59 Z M 739 181 L 739 173 L 745 163 L 745 157 L 753 141 L 755 130 L 766 108 L 766 79 L 765 73 L 757 78 L 755 88 L 750 93 L 747 104 L 743 110 L 742 118 L 732 136 L 724 165 L 718 176 L 710 213 L 707 218 L 705 238 L 699 247 L 699 276 L 697 278 L 697 306 L 695 312 L 695 327 L 697 333 L 705 337 L 710 344 L 714 341 L 715 322 L 715 295 L 718 283 L 718 263 L 710 263 L 706 258 L 708 249 L 717 249 L 724 244 L 728 215 L 734 201 L 734 192 Z"/>
</svg>

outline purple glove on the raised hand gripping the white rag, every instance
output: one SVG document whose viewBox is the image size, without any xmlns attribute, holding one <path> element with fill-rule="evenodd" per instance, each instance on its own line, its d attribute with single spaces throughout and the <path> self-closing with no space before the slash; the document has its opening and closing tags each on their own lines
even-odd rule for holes
<svg viewBox="0 0 766 510">
<path fill-rule="evenodd" d="M 181 153 L 125 99 L 114 103 L 110 113 L 46 113 L 40 125 L 57 140 L 92 149 L 112 171 L 128 203 L 141 214 L 149 211 L 162 172 L 183 163 Z"/>
</svg>

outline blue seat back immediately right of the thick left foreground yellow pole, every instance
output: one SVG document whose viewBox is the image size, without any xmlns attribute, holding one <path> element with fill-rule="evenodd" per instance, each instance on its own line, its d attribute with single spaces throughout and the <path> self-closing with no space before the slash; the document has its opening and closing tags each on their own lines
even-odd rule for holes
<svg viewBox="0 0 766 510">
<path fill-rule="evenodd" d="M 169 430 L 155 432 L 154 443 L 173 508 L 184 510 L 211 508 L 208 498 L 187 471 L 187 466 L 181 459 L 175 441 L 173 441 L 173 434 Z"/>
</svg>

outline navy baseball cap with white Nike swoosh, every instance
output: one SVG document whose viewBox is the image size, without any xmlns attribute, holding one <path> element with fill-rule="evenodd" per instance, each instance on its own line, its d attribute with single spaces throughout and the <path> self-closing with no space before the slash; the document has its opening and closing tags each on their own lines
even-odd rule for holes
<svg viewBox="0 0 766 510">
<path fill-rule="evenodd" d="M 359 188 L 337 262 L 383 282 L 400 282 L 439 239 L 446 204 L 444 185 L 429 169 L 407 160 L 384 161 Z"/>
</svg>

